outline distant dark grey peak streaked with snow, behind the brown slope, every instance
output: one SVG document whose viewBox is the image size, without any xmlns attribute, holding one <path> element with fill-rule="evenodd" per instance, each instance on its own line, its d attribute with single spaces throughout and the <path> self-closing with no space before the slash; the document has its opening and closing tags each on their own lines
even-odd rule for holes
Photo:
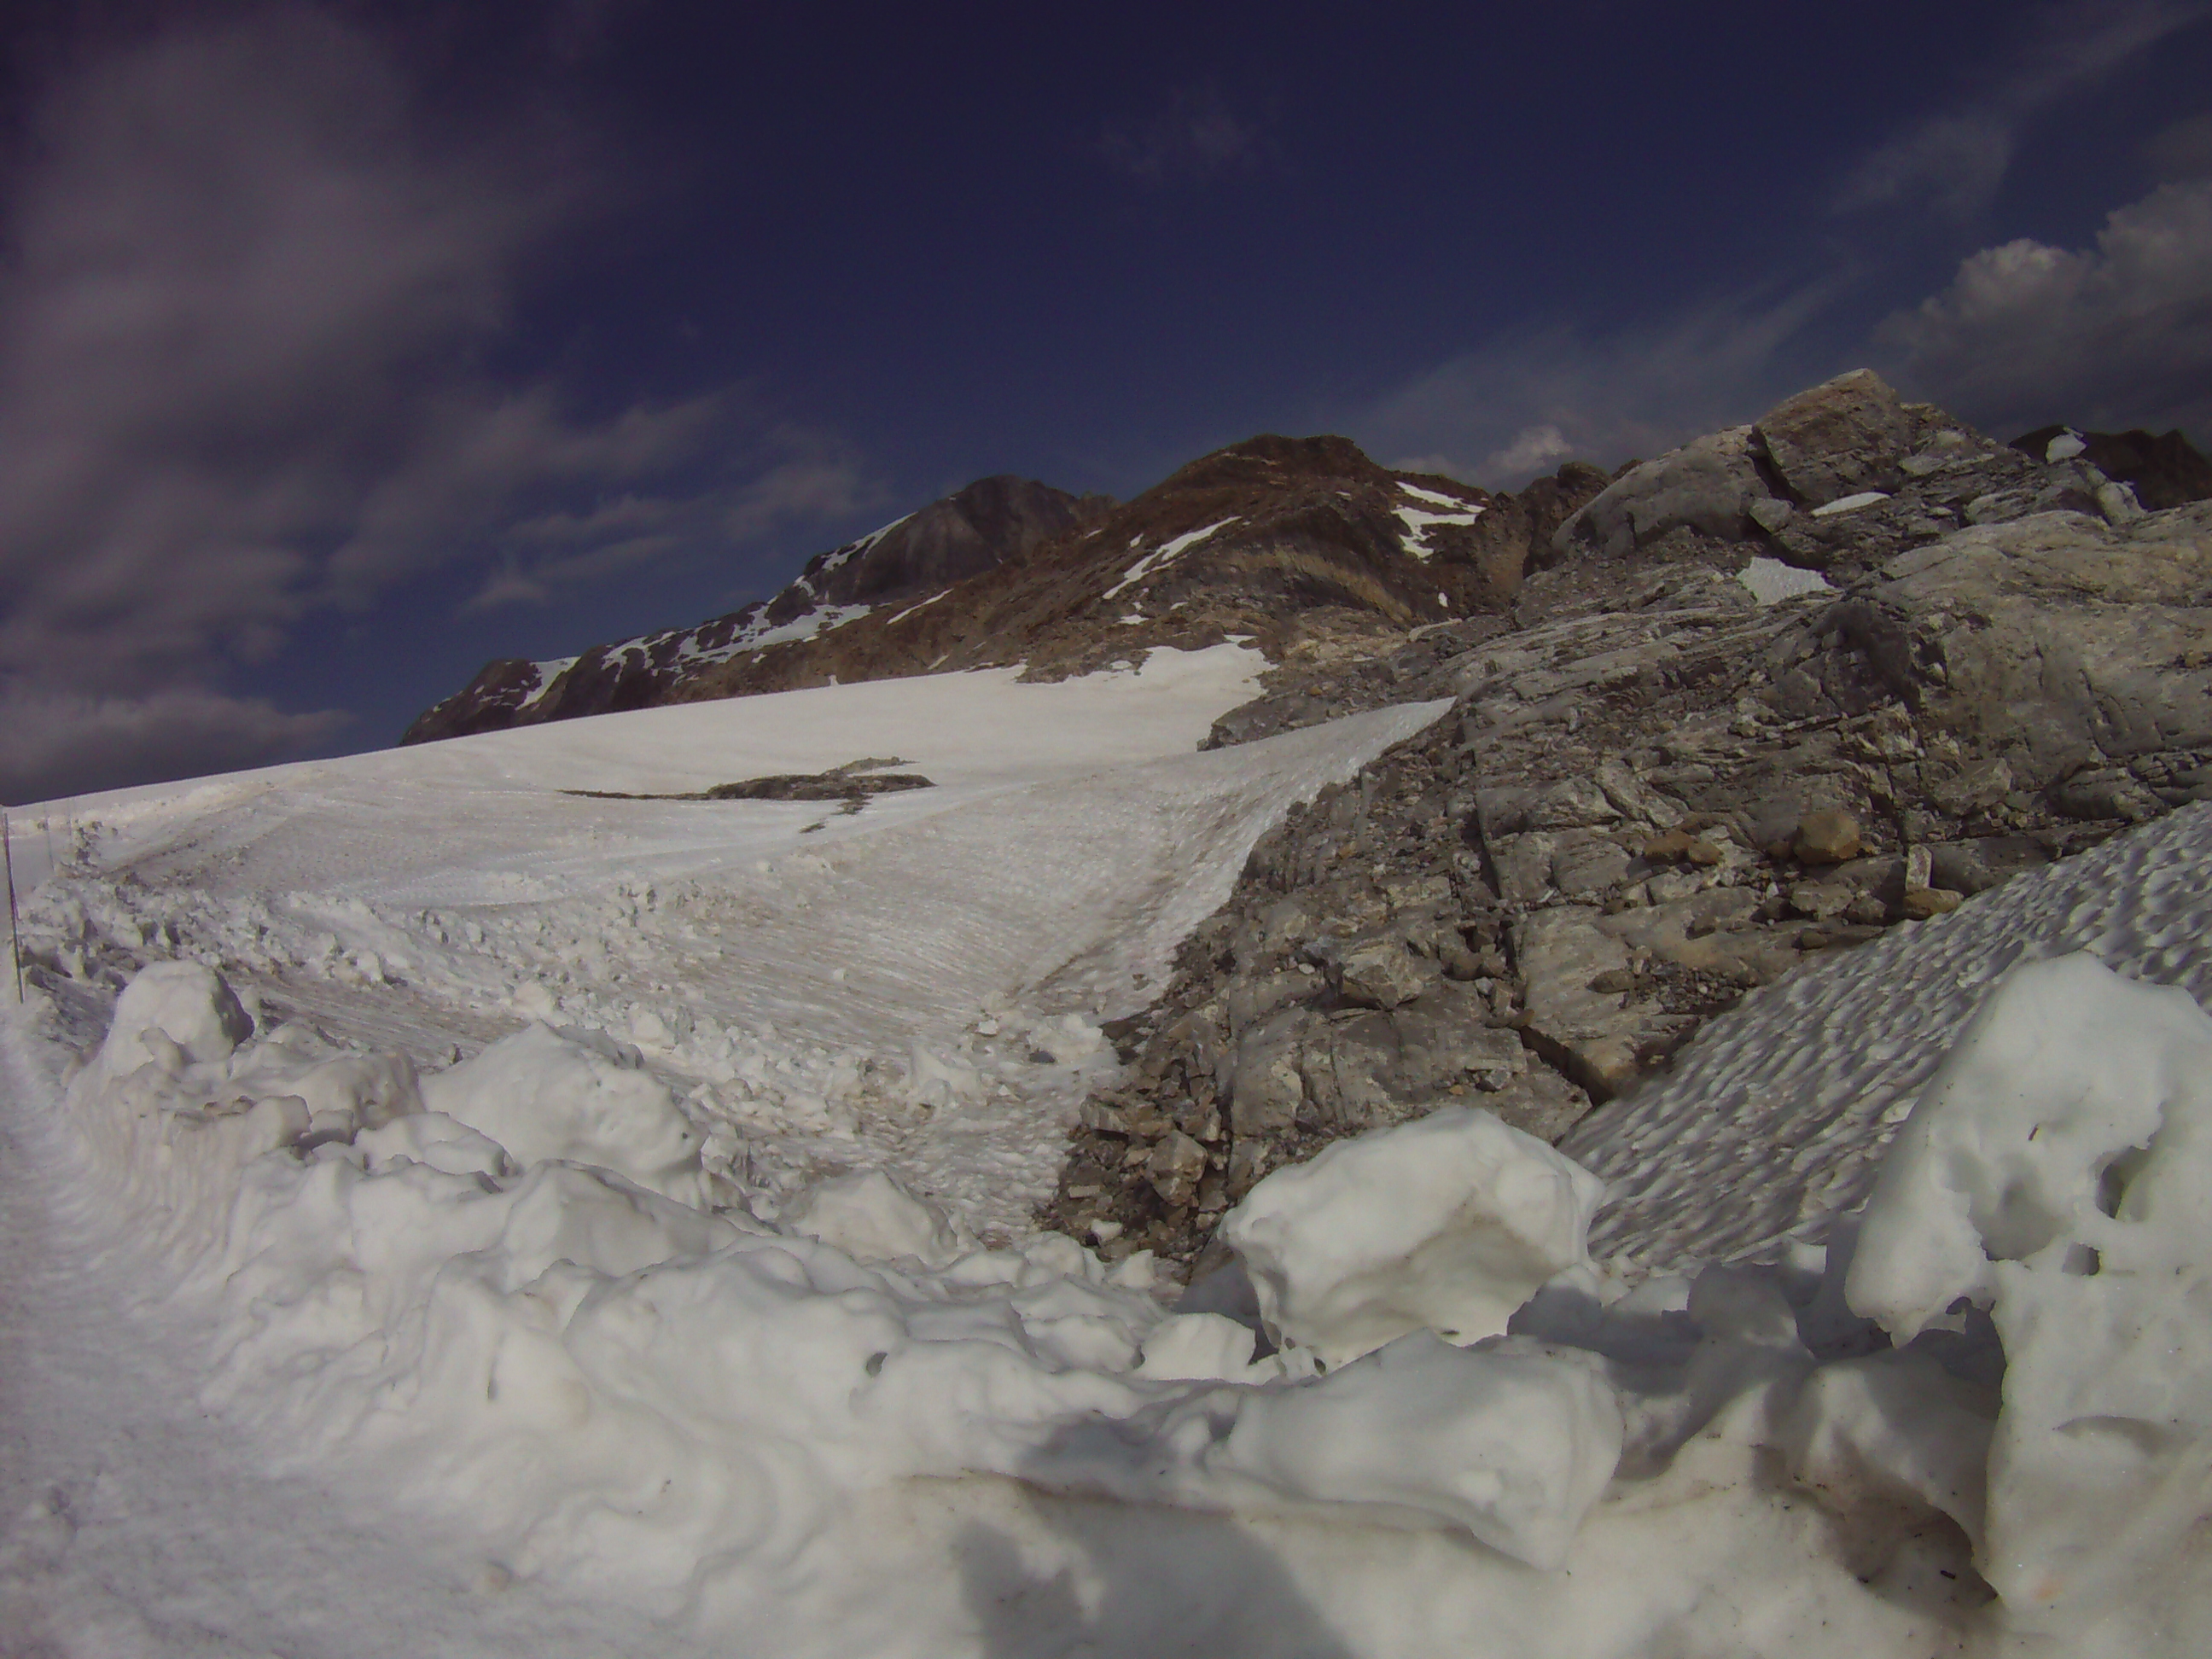
<svg viewBox="0 0 2212 1659">
<path fill-rule="evenodd" d="M 942 593 L 1110 507 L 1104 495 L 1071 495 L 1029 478 L 980 478 L 880 531 L 816 553 L 772 599 L 695 628 L 593 646 L 580 657 L 487 664 L 460 692 L 418 714 L 400 743 L 650 708 L 701 668 L 785 639 L 812 639 L 876 606 Z"/>
</svg>

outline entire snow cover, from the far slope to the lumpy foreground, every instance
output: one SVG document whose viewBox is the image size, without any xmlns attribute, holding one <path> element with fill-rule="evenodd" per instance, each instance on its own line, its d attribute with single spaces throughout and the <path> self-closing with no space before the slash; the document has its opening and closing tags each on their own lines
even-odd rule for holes
<svg viewBox="0 0 2212 1659">
<path fill-rule="evenodd" d="M 1447 708 L 1192 752 L 1256 666 L 18 814 L 0 1652 L 2205 1650 L 2212 810 L 1559 1150 L 1281 1170 L 1179 1310 L 1026 1221 L 1099 1026 Z M 854 763 L 931 787 L 566 794 Z"/>
</svg>

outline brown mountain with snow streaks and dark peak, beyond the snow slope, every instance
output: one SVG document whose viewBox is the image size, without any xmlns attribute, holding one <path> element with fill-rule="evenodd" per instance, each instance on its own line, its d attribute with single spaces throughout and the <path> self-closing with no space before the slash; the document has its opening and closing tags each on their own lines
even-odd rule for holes
<svg viewBox="0 0 2212 1659">
<path fill-rule="evenodd" d="M 958 668 L 1060 677 L 1232 635 L 1279 661 L 1336 664 L 1413 626 L 1504 615 L 1604 484 L 1568 462 L 1504 495 L 1394 473 L 1345 438 L 1279 436 L 1203 456 L 1124 507 L 989 478 L 818 555 L 765 604 L 573 661 L 493 661 L 405 741 Z"/>
</svg>

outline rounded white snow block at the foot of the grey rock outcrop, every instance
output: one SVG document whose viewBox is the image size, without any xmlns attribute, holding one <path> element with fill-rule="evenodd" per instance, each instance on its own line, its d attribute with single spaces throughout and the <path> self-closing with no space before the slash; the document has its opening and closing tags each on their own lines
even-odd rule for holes
<svg viewBox="0 0 2212 1659">
<path fill-rule="evenodd" d="M 1604 1181 L 1493 1113 L 1447 1106 L 1276 1170 L 1221 1223 L 1267 1329 L 1340 1365 L 1422 1327 L 1498 1336 L 1588 1261 Z"/>
</svg>

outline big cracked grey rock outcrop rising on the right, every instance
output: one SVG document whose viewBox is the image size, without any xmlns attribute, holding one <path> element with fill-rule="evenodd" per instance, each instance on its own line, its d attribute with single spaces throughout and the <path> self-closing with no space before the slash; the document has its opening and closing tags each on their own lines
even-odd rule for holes
<svg viewBox="0 0 2212 1659">
<path fill-rule="evenodd" d="M 1781 529 L 1882 484 L 1929 529 L 1854 529 L 1796 577 L 1752 507 L 1690 502 L 1747 476 Z M 1453 708 L 1263 838 L 1115 1029 L 1133 1068 L 1073 1130 L 1053 1225 L 1192 1263 L 1340 1135 L 1462 1099 L 1555 1139 L 1747 989 L 2212 799 L 2212 504 L 2143 513 L 1874 376 L 1608 493 L 1511 617 L 1338 672 Z M 1214 741 L 1327 714 L 1290 697 Z M 1159 1179 L 1170 1130 L 1203 1159 Z"/>
</svg>

